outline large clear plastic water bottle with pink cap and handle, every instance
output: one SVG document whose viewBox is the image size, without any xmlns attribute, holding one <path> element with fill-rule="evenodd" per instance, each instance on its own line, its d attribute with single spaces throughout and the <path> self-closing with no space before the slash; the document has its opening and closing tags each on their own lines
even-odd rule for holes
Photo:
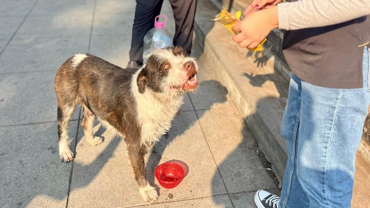
<svg viewBox="0 0 370 208">
<path fill-rule="evenodd" d="M 165 17 L 164 22 L 157 21 L 159 17 Z M 167 16 L 161 14 L 155 17 L 154 27 L 151 28 L 144 36 L 144 52 L 142 54 L 143 63 L 145 64 L 149 56 L 157 48 L 165 48 L 173 46 L 173 38 L 171 34 L 164 28 L 167 23 Z"/>
</svg>

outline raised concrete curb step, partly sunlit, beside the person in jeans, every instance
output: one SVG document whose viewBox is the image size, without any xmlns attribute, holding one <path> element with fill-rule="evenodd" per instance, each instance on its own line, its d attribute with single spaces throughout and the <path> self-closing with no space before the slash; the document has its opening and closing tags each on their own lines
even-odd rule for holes
<svg viewBox="0 0 370 208">
<path fill-rule="evenodd" d="M 260 149 L 271 162 L 277 179 L 282 182 L 287 150 L 280 136 L 280 124 L 287 100 L 289 71 L 283 75 L 283 70 L 277 67 L 283 64 L 268 50 L 252 52 L 235 44 L 222 24 L 211 21 L 220 10 L 210 5 L 208 0 L 198 2 L 201 11 L 195 18 L 196 41 L 211 60 L 221 83 L 228 89 Z"/>
</svg>

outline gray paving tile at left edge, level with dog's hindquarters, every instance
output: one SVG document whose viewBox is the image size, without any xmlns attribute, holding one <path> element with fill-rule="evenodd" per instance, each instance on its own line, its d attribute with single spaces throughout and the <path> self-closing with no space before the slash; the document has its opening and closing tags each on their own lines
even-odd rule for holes
<svg viewBox="0 0 370 208">
<path fill-rule="evenodd" d="M 57 121 L 54 77 L 53 71 L 1 75 L 0 126 Z"/>
</svg>

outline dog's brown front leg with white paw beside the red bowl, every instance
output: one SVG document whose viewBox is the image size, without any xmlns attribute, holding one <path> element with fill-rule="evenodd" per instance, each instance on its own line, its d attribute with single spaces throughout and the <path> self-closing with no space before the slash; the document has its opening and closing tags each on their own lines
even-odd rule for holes
<svg viewBox="0 0 370 208">
<path fill-rule="evenodd" d="M 144 201 L 154 202 L 158 199 L 157 190 L 152 187 L 147 181 L 145 175 L 145 162 L 144 155 L 147 153 L 147 149 L 136 143 L 128 144 L 128 157 L 131 160 L 132 168 L 134 168 L 135 179 L 139 184 L 139 193 Z"/>
</svg>

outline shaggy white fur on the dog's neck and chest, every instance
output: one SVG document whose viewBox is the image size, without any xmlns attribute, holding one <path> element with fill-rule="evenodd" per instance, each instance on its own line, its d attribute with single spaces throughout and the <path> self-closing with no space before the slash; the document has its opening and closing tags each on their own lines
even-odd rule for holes
<svg viewBox="0 0 370 208">
<path fill-rule="evenodd" d="M 152 90 L 139 93 L 137 74 L 132 78 L 132 94 L 136 101 L 137 119 L 141 125 L 141 142 L 145 146 L 154 144 L 171 128 L 171 121 L 183 103 L 184 95 L 162 95 Z"/>
</svg>

